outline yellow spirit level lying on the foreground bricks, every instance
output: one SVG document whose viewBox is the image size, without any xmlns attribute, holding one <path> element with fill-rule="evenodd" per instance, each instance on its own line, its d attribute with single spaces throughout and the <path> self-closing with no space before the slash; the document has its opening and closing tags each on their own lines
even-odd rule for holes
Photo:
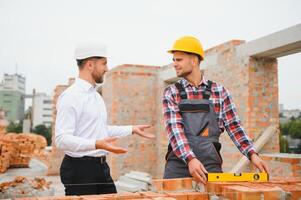
<svg viewBox="0 0 301 200">
<path fill-rule="evenodd" d="M 267 173 L 208 173 L 208 182 L 220 181 L 259 181 L 264 182 L 269 180 Z"/>
</svg>

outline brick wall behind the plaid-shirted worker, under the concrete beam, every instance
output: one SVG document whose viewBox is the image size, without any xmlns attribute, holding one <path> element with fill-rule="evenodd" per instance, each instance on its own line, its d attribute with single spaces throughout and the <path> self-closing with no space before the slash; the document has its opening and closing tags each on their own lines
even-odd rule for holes
<svg viewBox="0 0 301 200">
<path fill-rule="evenodd" d="M 208 79 L 221 83 L 232 95 L 242 124 L 254 141 L 271 124 L 278 124 L 278 74 L 276 59 L 240 57 L 236 47 L 244 41 L 232 40 L 207 50 L 209 64 L 201 64 Z M 213 58 L 213 59 L 212 59 Z M 223 170 L 230 170 L 241 157 L 230 137 L 221 136 Z M 279 133 L 261 152 L 279 152 Z"/>
</svg>

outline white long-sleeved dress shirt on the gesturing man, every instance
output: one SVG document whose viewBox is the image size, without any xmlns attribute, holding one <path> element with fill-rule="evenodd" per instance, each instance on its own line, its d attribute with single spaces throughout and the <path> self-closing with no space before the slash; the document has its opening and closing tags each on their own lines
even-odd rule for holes
<svg viewBox="0 0 301 200">
<path fill-rule="evenodd" d="M 96 88 L 77 78 L 58 98 L 55 144 L 71 157 L 103 156 L 95 141 L 108 136 L 124 137 L 132 126 L 108 126 L 105 103 Z"/>
</svg>

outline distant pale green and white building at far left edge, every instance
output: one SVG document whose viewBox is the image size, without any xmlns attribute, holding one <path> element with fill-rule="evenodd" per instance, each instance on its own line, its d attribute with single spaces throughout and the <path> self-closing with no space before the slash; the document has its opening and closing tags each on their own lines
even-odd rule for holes
<svg viewBox="0 0 301 200">
<path fill-rule="evenodd" d="M 4 74 L 0 82 L 0 108 L 9 121 L 24 118 L 25 77 L 20 74 Z"/>
</svg>

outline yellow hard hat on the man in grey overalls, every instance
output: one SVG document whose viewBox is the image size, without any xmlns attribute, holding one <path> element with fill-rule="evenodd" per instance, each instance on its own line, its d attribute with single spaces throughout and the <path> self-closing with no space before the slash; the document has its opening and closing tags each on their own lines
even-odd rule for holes
<svg viewBox="0 0 301 200">
<path fill-rule="evenodd" d="M 183 51 L 188 53 L 194 53 L 201 57 L 204 60 L 204 50 L 201 42 L 192 36 L 183 36 L 177 39 L 173 47 L 168 50 L 168 53 L 173 53 L 174 51 Z"/>
</svg>

